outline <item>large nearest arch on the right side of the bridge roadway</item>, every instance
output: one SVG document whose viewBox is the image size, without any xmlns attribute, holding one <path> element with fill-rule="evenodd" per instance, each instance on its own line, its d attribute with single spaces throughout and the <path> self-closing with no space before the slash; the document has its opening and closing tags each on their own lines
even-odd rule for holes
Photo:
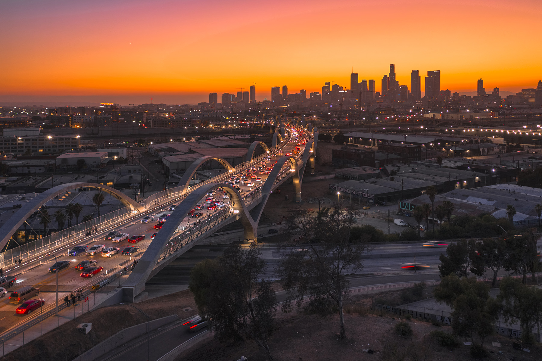
<svg viewBox="0 0 542 361">
<path fill-rule="evenodd" d="M 145 282 L 151 277 L 152 270 L 157 264 L 162 251 L 167 247 L 167 242 L 171 240 L 184 220 L 184 217 L 190 212 L 190 210 L 207 194 L 211 189 L 222 187 L 227 189 L 230 194 L 231 203 L 233 204 L 233 210 L 238 211 L 235 220 L 241 218 L 241 223 L 245 229 L 249 229 L 251 233 L 255 233 L 255 226 L 253 222 L 250 222 L 250 216 L 248 216 L 248 209 L 242 201 L 241 195 L 229 184 L 223 183 L 209 183 L 205 184 L 195 191 L 191 192 L 180 205 L 172 212 L 171 216 L 166 223 L 162 226 L 162 229 L 154 237 L 152 242 L 147 247 L 143 256 L 138 262 L 138 265 L 134 268 L 128 279 L 122 285 L 123 295 L 126 299 L 132 300 L 145 290 Z M 246 232 L 246 231 L 245 231 Z"/>
</svg>

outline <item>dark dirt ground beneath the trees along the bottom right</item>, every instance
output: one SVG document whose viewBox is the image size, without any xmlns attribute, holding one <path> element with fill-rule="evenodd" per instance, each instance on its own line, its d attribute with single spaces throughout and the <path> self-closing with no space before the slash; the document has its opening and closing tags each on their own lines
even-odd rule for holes
<svg viewBox="0 0 542 361">
<path fill-rule="evenodd" d="M 451 332 L 451 327 L 438 327 L 423 321 L 407 321 L 413 330 L 410 338 L 398 336 L 394 327 L 401 319 L 389 315 L 346 314 L 347 339 L 339 340 L 338 317 L 318 318 L 300 314 L 280 314 L 269 347 L 275 361 L 308 360 L 383 360 L 383 361 L 456 361 L 471 360 L 469 347 L 456 349 L 441 347 L 429 337 L 431 331 Z M 500 341 L 501 347 L 492 346 Z M 491 360 L 540 360 L 539 346 L 529 346 L 531 352 L 512 349 L 512 340 L 488 337 L 487 359 Z M 489 345 L 489 346 L 488 346 Z M 372 350 L 368 353 L 366 350 Z M 499 354 L 499 351 L 502 354 Z M 215 339 L 202 341 L 180 355 L 176 361 L 233 361 L 241 356 L 252 360 L 266 360 L 254 341 L 222 344 Z M 513 358 L 512 358 L 513 357 Z"/>
</svg>

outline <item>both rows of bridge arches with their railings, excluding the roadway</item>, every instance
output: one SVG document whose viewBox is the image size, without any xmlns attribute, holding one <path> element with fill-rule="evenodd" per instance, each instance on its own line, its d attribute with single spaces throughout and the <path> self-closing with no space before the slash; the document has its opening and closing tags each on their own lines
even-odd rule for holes
<svg viewBox="0 0 542 361">
<path fill-rule="evenodd" d="M 299 145 L 300 150 L 298 151 L 295 150 L 296 145 L 292 141 L 294 128 L 299 134 L 305 134 L 304 138 L 306 138 L 306 144 Z M 224 227 L 224 225 L 240 220 L 244 229 L 244 238 L 257 242 L 257 226 L 273 190 L 282 183 L 292 179 L 294 186 L 292 199 L 294 202 L 301 201 L 303 175 L 307 164 L 311 167 L 311 170 L 314 169 L 314 154 L 317 142 L 317 128 L 312 127 L 310 124 L 306 124 L 303 127 L 282 125 L 280 130 L 278 129 L 273 134 L 272 147 L 268 147 L 260 142 L 255 142 L 251 145 L 247 162 L 233 167 L 220 157 L 202 157 L 196 160 L 185 172 L 185 175 L 179 182 L 179 186 L 151 195 L 140 203 L 133 201 L 133 199 L 106 185 L 82 182 L 59 185 L 37 195 L 15 212 L 12 216 L 13 218 L 10 219 L 16 221 L 8 222 L 0 228 L 0 247 L 5 246 L 11 236 L 16 233 L 30 215 L 40 210 L 44 204 L 48 204 L 47 202 L 50 202 L 51 199 L 55 199 L 64 192 L 72 189 L 101 190 L 124 204 L 126 209 L 122 208 L 115 211 L 117 213 L 114 216 L 113 213 L 102 215 L 99 217 L 100 219 L 103 218 L 100 222 L 95 222 L 95 220 L 98 220 L 98 218 L 95 218 L 92 221 L 81 222 L 71 228 L 66 228 L 58 233 L 47 236 L 46 238 L 51 239 L 47 247 L 38 248 L 36 246 L 31 250 L 27 249 L 27 254 L 24 255 L 25 259 L 28 259 L 27 257 L 36 258 L 40 254 L 43 255 L 50 252 L 50 250 L 57 252 L 59 251 L 59 247 L 65 247 L 66 244 L 71 245 L 74 242 L 80 241 L 89 242 L 89 240 L 84 240 L 92 237 L 87 234 L 88 229 L 91 227 L 96 227 L 99 231 L 108 230 L 112 227 L 116 229 L 115 224 L 135 220 L 134 214 L 150 212 L 151 210 L 156 211 L 157 209 L 161 209 L 162 205 L 166 203 L 177 202 L 177 199 L 179 201 L 182 199 L 180 205 L 172 212 L 170 218 L 164 223 L 156 237 L 148 244 L 145 252 L 140 256 L 137 266 L 122 286 L 124 299 L 133 301 L 139 294 L 145 291 L 146 281 L 158 273 L 160 269 L 164 268 L 172 260 L 175 260 L 180 254 L 186 252 L 186 250 L 198 244 L 205 237 Z M 261 156 L 251 159 L 254 151 L 259 146 L 263 148 L 264 153 Z M 266 160 L 272 154 L 275 156 L 274 160 L 276 160 L 276 164 L 274 166 L 267 165 L 267 167 L 272 167 L 272 170 L 269 171 L 269 174 L 262 175 L 260 186 L 248 189 L 249 186 L 245 185 L 243 186 L 244 192 L 240 192 L 235 186 L 226 183 L 229 181 L 231 175 L 246 173 L 251 167 L 261 166 L 262 161 Z M 221 163 L 226 171 L 219 176 L 191 186 L 190 179 L 196 173 L 198 167 L 210 160 Z M 219 188 L 220 191 L 218 192 L 221 195 L 227 195 L 227 197 L 224 197 L 225 202 L 220 205 L 220 208 L 210 211 L 207 215 L 202 215 L 199 218 L 187 217 L 194 205 L 201 203 L 202 199 L 204 201 L 205 196 L 209 192 Z M 54 217 L 53 215 L 50 216 L 51 218 Z M 29 242 L 29 244 L 31 243 L 37 244 L 38 242 Z M 43 242 L 43 244 L 45 243 Z M 19 248 L 24 248 L 25 246 L 23 246 Z M 12 264 L 13 259 L 17 259 L 15 249 L 10 249 L 8 252 L 12 252 L 10 258 Z M 2 257 L 3 254 L 0 254 L 0 267 L 4 261 L 8 260 L 7 258 L 4 260 Z M 32 260 L 30 259 L 30 261 Z"/>
</svg>

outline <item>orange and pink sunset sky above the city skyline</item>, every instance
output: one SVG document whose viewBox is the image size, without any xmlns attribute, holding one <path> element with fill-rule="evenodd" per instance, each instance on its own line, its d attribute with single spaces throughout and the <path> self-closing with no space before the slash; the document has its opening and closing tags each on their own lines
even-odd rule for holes
<svg viewBox="0 0 542 361">
<path fill-rule="evenodd" d="M 348 88 L 396 66 L 441 89 L 518 92 L 542 78 L 540 0 L 0 0 L 0 102 L 207 101 L 256 83 Z"/>
</svg>

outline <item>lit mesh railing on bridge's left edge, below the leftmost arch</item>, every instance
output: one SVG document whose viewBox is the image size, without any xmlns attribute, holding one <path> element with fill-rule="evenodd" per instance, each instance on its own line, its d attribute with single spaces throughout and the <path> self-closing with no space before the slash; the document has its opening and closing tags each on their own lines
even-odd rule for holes
<svg viewBox="0 0 542 361">
<path fill-rule="evenodd" d="M 94 218 L 93 220 L 81 222 L 72 227 L 55 232 L 47 237 L 38 238 L 37 240 L 30 241 L 22 246 L 8 249 L 5 252 L 0 253 L 0 267 L 4 270 L 9 267 L 18 267 L 18 265 L 15 264 L 17 260 L 22 260 L 21 265 L 25 262 L 34 261 L 33 258 L 50 249 L 62 247 L 64 245 L 69 246 L 68 243 L 79 240 L 82 236 L 86 236 L 93 228 L 101 230 L 109 225 L 117 224 L 131 216 L 133 216 L 133 214 L 127 208 L 118 209 L 98 218 Z M 91 236 L 92 235 L 89 235 L 89 237 Z"/>
</svg>

